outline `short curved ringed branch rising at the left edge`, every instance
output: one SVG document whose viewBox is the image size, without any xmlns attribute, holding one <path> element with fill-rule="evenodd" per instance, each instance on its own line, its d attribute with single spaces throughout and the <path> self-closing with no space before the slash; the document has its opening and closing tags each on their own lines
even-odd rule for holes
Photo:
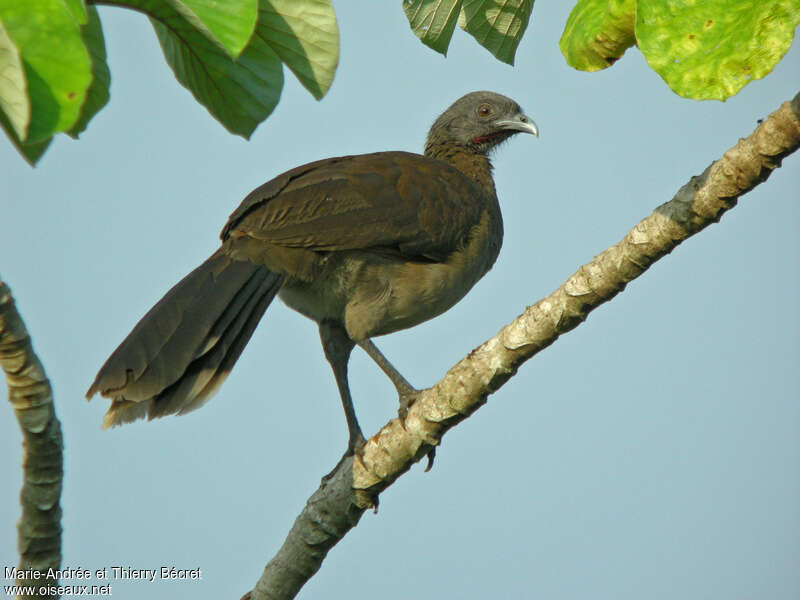
<svg viewBox="0 0 800 600">
<path fill-rule="evenodd" d="M 6 374 L 8 399 L 22 430 L 22 517 L 17 525 L 19 567 L 16 582 L 45 593 L 25 598 L 57 598 L 49 569 L 61 565 L 61 483 L 63 476 L 61 424 L 42 363 L 33 352 L 11 296 L 0 280 L 0 366 Z M 39 572 L 36 577 L 34 572 Z M 17 596 L 22 598 L 22 596 Z"/>
</svg>

